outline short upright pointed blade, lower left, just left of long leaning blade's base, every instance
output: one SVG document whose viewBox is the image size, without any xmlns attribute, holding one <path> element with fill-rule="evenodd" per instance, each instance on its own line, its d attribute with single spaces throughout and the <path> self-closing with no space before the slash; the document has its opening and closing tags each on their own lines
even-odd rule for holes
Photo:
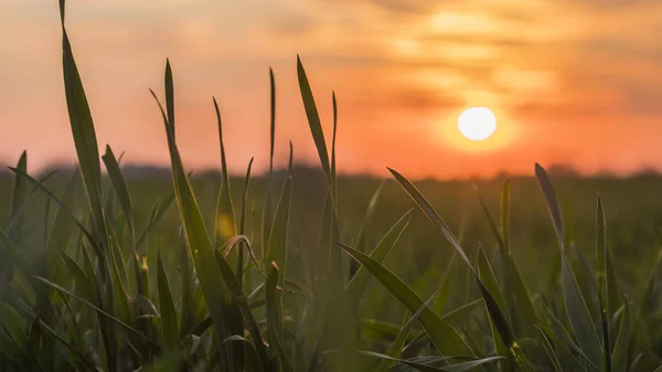
<svg viewBox="0 0 662 372">
<path fill-rule="evenodd" d="M 161 259 L 161 252 L 157 254 L 157 286 L 159 288 L 159 308 L 161 310 L 161 334 L 163 337 L 163 344 L 166 349 L 174 350 L 179 348 L 179 326 L 177 321 L 177 310 L 174 308 L 174 300 L 172 299 L 172 293 L 170 285 L 168 284 L 168 276 L 166 274 L 166 267 L 163 266 L 163 259 Z"/>
</svg>

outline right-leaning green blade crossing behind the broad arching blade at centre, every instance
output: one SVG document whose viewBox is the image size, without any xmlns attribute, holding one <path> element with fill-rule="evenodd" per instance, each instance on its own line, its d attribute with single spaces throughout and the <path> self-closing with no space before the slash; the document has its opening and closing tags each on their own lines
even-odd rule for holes
<svg viewBox="0 0 662 372">
<path fill-rule="evenodd" d="M 412 210 L 407 211 L 399 220 L 393 224 L 393 226 L 384 234 L 384 237 L 377 243 L 370 254 L 370 257 L 377 263 L 382 263 L 391 249 L 395 246 L 402 234 L 405 232 L 409 222 L 412 221 Z M 352 280 L 345 286 L 345 293 L 348 294 L 349 304 L 357 306 L 372 274 L 365 267 L 359 267 L 356 274 L 352 277 Z"/>
</svg>

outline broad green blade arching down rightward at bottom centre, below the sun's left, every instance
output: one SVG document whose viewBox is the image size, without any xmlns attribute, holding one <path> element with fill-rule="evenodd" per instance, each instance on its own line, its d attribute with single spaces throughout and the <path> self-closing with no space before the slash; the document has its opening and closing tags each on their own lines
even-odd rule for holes
<svg viewBox="0 0 662 372">
<path fill-rule="evenodd" d="M 401 278 L 365 254 L 340 243 L 341 247 L 367 269 L 409 311 L 416 312 L 424 301 Z M 473 355 L 460 334 L 429 308 L 420 313 L 419 321 L 428 337 L 444 355 Z"/>
</svg>

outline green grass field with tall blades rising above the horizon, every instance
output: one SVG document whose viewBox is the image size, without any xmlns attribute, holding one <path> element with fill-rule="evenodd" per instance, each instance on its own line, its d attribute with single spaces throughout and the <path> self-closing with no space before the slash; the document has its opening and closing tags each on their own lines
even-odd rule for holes
<svg viewBox="0 0 662 372">
<path fill-rule="evenodd" d="M 291 144 L 289 168 L 273 168 L 271 73 L 268 174 L 252 177 L 253 160 L 244 178 L 227 173 L 213 99 L 221 180 L 192 177 L 177 145 L 167 62 L 163 100 L 152 95 L 171 174 L 135 178 L 109 146 L 98 157 L 64 9 L 61 1 L 79 168 L 35 179 L 23 153 L 2 179 L 11 187 L 0 182 L 9 195 L 0 370 L 628 372 L 662 364 L 662 256 L 652 221 L 660 206 L 648 198 L 658 178 L 553 183 L 537 164 L 535 180 L 474 190 L 415 184 L 396 170 L 388 183 L 345 178 L 335 166 L 335 96 L 328 138 L 299 59 L 321 174 L 293 167 Z M 590 195 L 598 185 L 604 193 Z"/>
</svg>

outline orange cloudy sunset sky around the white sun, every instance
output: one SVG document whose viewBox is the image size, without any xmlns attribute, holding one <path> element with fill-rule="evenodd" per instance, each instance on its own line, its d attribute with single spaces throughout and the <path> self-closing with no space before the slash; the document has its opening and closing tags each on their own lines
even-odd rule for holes
<svg viewBox="0 0 662 372">
<path fill-rule="evenodd" d="M 188 168 L 217 167 L 211 96 L 231 171 L 268 161 L 269 79 L 277 157 L 317 161 L 297 88 L 308 71 L 325 128 L 339 102 L 339 169 L 408 177 L 662 170 L 659 0 L 70 0 L 67 28 L 99 138 L 126 161 L 168 163 L 160 114 L 170 57 Z M 0 162 L 72 161 L 57 2 L 0 1 Z M 496 134 L 462 139 L 465 107 Z M 330 130 L 328 131 L 330 132 Z"/>
</svg>

